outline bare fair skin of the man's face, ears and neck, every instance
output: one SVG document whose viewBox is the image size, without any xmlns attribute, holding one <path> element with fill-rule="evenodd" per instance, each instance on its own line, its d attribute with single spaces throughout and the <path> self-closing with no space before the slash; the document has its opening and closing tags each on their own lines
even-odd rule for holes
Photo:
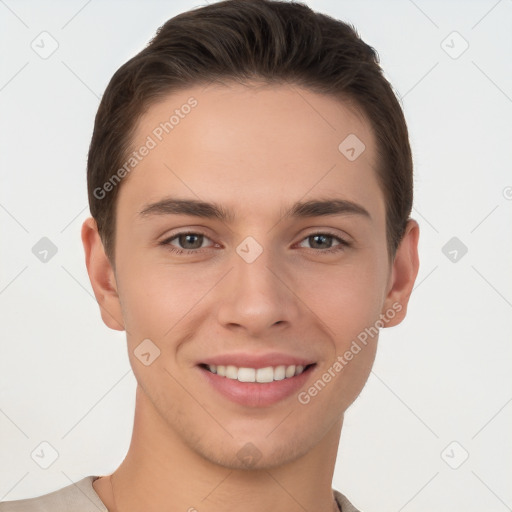
<svg viewBox="0 0 512 512">
<path fill-rule="evenodd" d="M 305 405 L 296 393 L 267 407 L 233 403 L 200 378 L 197 364 L 235 351 L 303 356 L 316 362 L 307 390 L 393 304 L 401 310 L 385 326 L 403 320 L 418 273 L 418 224 L 409 220 L 389 261 L 369 123 L 348 104 L 298 86 L 173 93 L 140 119 L 134 148 L 190 96 L 198 105 L 120 185 L 115 270 L 95 221 L 82 227 L 103 321 L 127 331 L 138 382 L 130 448 L 113 474 L 116 507 L 110 477 L 94 489 L 122 512 L 336 510 L 343 416 L 367 381 L 378 336 Z M 352 162 L 338 150 L 351 133 L 366 146 Z M 234 219 L 138 215 L 169 195 L 214 201 Z M 318 198 L 353 201 L 371 218 L 283 217 L 295 201 Z M 315 245 L 311 235 L 326 231 L 351 245 L 324 254 L 337 239 Z M 172 246 L 196 251 L 179 255 L 159 245 L 177 232 L 206 236 L 200 249 L 201 241 L 174 238 Z M 247 236 L 263 249 L 252 263 L 236 252 Z M 147 338 L 161 351 L 149 366 L 134 354 Z M 259 453 L 250 468 L 237 456 L 249 442 Z"/>
</svg>

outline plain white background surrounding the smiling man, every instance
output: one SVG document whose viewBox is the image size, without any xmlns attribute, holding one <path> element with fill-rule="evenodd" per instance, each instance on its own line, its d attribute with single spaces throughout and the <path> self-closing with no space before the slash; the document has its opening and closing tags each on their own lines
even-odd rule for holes
<svg viewBox="0 0 512 512">
<path fill-rule="evenodd" d="M 306 3 L 379 52 L 410 130 L 421 229 L 409 314 L 381 331 L 333 487 L 363 512 L 510 510 L 512 1 Z M 125 334 L 101 321 L 80 241 L 86 156 L 112 74 L 197 5 L 0 0 L 0 501 L 108 474 L 128 449 Z M 59 44 L 48 59 L 31 48 L 42 31 Z M 469 44 L 456 59 L 453 31 Z M 47 263 L 32 253 L 42 237 L 58 249 Z M 456 262 L 442 252 L 452 237 L 468 249 Z M 48 469 L 31 458 L 43 441 L 59 454 Z"/>
</svg>

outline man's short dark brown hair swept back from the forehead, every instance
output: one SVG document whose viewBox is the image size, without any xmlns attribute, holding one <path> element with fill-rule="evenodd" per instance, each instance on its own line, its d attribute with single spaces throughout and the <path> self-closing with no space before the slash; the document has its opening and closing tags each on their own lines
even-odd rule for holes
<svg viewBox="0 0 512 512">
<path fill-rule="evenodd" d="M 105 192 L 104 184 L 126 161 L 140 117 L 172 92 L 226 79 L 296 84 L 362 110 L 377 141 L 377 179 L 393 260 L 411 213 L 413 164 L 404 115 L 377 52 L 352 25 L 305 4 L 225 0 L 168 20 L 105 90 L 89 148 L 87 187 L 111 264 L 120 185 L 109 187 L 108 194 L 98 190 Z"/>
</svg>

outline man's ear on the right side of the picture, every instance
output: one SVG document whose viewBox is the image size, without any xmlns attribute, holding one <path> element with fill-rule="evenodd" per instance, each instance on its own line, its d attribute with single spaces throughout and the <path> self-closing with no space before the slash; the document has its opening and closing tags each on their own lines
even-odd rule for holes
<svg viewBox="0 0 512 512">
<path fill-rule="evenodd" d="M 409 219 L 391 267 L 387 294 L 381 312 L 387 318 L 384 327 L 398 325 L 407 313 L 407 304 L 420 266 L 418 258 L 419 236 L 418 223 Z M 390 311 L 395 313 L 392 318 L 389 315 Z"/>
</svg>

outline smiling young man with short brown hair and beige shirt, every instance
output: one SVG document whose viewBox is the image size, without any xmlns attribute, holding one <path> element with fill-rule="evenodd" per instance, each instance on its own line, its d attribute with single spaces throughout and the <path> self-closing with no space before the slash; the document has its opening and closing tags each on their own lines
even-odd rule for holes
<svg viewBox="0 0 512 512">
<path fill-rule="evenodd" d="M 86 265 L 138 382 L 111 475 L 0 510 L 357 511 L 332 477 L 418 272 L 407 128 L 372 48 L 305 5 L 180 14 L 112 78 Z"/>
</svg>

